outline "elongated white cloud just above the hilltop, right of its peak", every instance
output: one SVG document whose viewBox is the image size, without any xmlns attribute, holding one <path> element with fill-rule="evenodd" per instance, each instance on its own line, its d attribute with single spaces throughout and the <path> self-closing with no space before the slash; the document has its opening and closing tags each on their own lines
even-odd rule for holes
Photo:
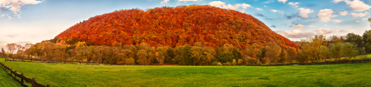
<svg viewBox="0 0 371 87">
<path fill-rule="evenodd" d="M 236 10 L 239 7 L 242 7 L 242 8 L 251 7 L 249 4 L 244 4 L 244 3 L 243 4 L 235 4 L 234 6 L 232 6 L 231 4 L 226 5 L 226 3 L 221 2 L 221 1 L 213 1 L 213 2 L 210 2 L 209 4 L 210 4 L 210 6 L 215 6 L 215 7 L 219 7 L 219 8 L 225 8 L 225 9 L 231 9 L 231 10 Z"/>
</svg>

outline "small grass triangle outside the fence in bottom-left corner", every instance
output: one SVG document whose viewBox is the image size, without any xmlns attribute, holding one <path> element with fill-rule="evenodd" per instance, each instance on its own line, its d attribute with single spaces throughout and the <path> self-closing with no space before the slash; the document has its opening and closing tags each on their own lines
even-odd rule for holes
<svg viewBox="0 0 371 87">
<path fill-rule="evenodd" d="M 4 69 L 0 68 L 0 87 L 22 87 L 16 80 L 8 75 Z"/>
</svg>

